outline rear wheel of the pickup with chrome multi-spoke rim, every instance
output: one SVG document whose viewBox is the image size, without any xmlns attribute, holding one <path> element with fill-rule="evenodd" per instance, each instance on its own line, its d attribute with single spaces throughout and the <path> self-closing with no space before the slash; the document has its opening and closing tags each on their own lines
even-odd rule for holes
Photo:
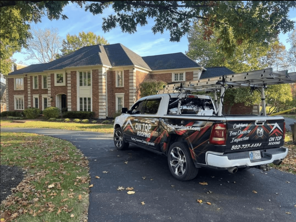
<svg viewBox="0 0 296 222">
<path fill-rule="evenodd" d="M 181 181 L 194 179 L 198 173 L 185 143 L 175 142 L 170 146 L 168 165 L 173 177 Z"/>
</svg>

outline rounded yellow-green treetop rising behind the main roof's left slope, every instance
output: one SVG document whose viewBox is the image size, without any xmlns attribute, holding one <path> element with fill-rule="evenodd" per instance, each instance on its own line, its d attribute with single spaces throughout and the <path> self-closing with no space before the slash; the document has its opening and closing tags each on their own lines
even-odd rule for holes
<svg viewBox="0 0 296 222">
<path fill-rule="evenodd" d="M 60 56 L 65 56 L 70 54 L 84 46 L 89 45 L 109 45 L 108 41 L 99 35 L 94 34 L 94 32 L 79 32 L 77 35 L 67 34 L 66 40 L 63 40 L 63 45 Z"/>
</svg>

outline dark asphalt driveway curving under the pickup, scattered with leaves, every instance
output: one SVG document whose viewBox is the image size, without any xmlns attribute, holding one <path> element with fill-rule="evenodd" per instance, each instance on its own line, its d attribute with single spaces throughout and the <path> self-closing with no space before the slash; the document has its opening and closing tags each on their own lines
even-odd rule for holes
<svg viewBox="0 0 296 222">
<path fill-rule="evenodd" d="M 90 188 L 89 222 L 296 221 L 294 174 L 274 169 L 236 174 L 202 169 L 195 179 L 181 182 L 170 175 L 165 156 L 135 146 L 117 151 L 112 135 L 36 128 L 2 131 L 54 136 L 81 149 L 89 158 L 94 185 Z M 119 186 L 133 187 L 135 193 L 118 191 Z"/>
</svg>

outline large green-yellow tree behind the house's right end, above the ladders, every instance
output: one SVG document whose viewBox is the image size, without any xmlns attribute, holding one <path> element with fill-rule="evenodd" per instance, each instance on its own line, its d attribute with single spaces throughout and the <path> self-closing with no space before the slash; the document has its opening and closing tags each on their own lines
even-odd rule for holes
<svg viewBox="0 0 296 222">
<path fill-rule="evenodd" d="M 219 30 L 214 30 L 210 38 L 206 40 L 204 30 L 206 27 L 196 22 L 188 33 L 188 51 L 186 55 L 198 61 L 204 67 L 225 66 L 239 73 L 265 68 L 262 59 L 266 56 L 267 47 L 258 43 L 237 43 L 233 35 L 229 35 L 229 44 L 234 45 L 235 50 L 229 55 L 224 50 Z"/>
</svg>

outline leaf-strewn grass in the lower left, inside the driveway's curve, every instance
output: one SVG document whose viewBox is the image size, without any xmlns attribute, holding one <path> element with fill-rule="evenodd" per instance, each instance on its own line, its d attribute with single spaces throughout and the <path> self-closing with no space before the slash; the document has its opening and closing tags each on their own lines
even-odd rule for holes
<svg viewBox="0 0 296 222">
<path fill-rule="evenodd" d="M 1 132 L 0 150 L 1 165 L 26 172 L 1 202 L 1 221 L 87 221 L 89 162 L 75 146 L 49 136 Z"/>
</svg>

